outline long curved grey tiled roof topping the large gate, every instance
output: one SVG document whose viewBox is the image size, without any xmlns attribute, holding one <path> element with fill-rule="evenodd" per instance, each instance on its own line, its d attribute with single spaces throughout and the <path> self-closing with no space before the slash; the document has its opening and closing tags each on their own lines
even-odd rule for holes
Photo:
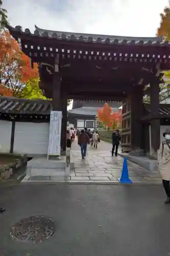
<svg viewBox="0 0 170 256">
<path fill-rule="evenodd" d="M 69 41 L 81 41 L 81 42 L 94 42 L 102 44 L 115 44 L 115 45 L 152 45 L 152 46 L 164 46 L 169 45 L 169 42 L 162 40 L 162 37 L 131 37 L 131 36 L 114 36 L 114 35 L 100 35 L 100 34 L 85 34 L 85 33 L 73 33 L 73 32 L 61 32 L 54 30 L 40 29 L 35 25 L 34 34 L 26 28 L 22 31 L 21 26 L 15 28 L 8 26 L 10 32 L 20 32 L 24 34 L 30 34 L 32 36 L 56 38 L 59 40 Z"/>
</svg>

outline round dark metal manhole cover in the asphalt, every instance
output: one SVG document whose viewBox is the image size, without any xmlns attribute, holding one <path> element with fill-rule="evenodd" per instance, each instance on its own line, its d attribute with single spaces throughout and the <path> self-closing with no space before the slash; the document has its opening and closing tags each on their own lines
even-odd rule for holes
<svg viewBox="0 0 170 256">
<path fill-rule="evenodd" d="M 32 216 L 15 223 L 10 232 L 13 240 L 19 242 L 42 242 L 55 232 L 55 223 L 44 216 Z"/>
</svg>

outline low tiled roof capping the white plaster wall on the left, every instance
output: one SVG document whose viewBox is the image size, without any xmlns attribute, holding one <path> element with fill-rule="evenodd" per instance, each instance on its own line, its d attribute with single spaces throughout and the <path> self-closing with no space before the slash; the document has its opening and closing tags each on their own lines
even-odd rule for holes
<svg viewBox="0 0 170 256">
<path fill-rule="evenodd" d="M 14 114 L 50 114 L 52 101 L 16 99 L 0 96 L 0 113 Z"/>
</svg>

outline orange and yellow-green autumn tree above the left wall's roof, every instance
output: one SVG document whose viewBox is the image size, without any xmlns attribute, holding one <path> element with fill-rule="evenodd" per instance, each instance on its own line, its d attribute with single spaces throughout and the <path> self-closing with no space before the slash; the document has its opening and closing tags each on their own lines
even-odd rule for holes
<svg viewBox="0 0 170 256">
<path fill-rule="evenodd" d="M 21 51 L 8 31 L 0 34 L 0 94 L 18 98 L 45 98 L 38 87 L 37 63 Z M 46 98 L 45 98 L 46 99 Z"/>
</svg>

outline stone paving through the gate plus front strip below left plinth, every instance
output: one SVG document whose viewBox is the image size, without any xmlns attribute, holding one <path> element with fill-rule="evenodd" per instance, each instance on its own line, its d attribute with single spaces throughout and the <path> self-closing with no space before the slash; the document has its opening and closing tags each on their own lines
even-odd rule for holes
<svg viewBox="0 0 170 256">
<path fill-rule="evenodd" d="M 71 170 L 69 175 L 58 173 L 57 176 L 51 175 L 45 171 L 44 175 L 31 176 L 28 180 L 22 182 L 65 182 L 76 184 L 120 184 L 118 178 L 121 177 L 123 161 L 120 156 L 111 157 L 112 145 L 101 141 L 99 147 L 93 148 L 88 145 L 87 155 L 82 160 L 80 146 L 77 140 L 71 145 L 71 153 L 75 162 L 75 169 Z M 129 177 L 133 183 L 161 184 L 160 175 L 157 172 L 151 172 L 135 163 L 128 161 Z"/>
</svg>

